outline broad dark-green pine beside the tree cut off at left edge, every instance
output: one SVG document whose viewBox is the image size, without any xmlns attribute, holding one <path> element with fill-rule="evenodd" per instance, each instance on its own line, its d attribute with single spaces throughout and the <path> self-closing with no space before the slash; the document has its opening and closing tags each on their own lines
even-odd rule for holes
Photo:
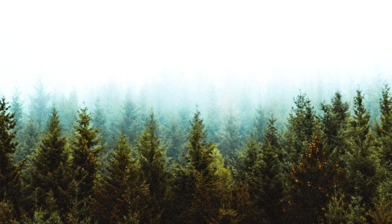
<svg viewBox="0 0 392 224">
<path fill-rule="evenodd" d="M 60 211 L 66 209 L 68 202 L 67 186 L 70 182 L 69 155 L 66 137 L 62 135 L 57 110 L 52 115 L 46 133 L 41 138 L 36 153 L 32 158 L 31 187 L 36 191 L 38 205 L 49 209 L 46 203 L 51 192 L 56 207 Z"/>
</svg>

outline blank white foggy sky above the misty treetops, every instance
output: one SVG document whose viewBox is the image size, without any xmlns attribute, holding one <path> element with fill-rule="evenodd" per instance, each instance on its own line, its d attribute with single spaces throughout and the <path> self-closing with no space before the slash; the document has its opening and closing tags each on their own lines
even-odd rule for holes
<svg viewBox="0 0 392 224">
<path fill-rule="evenodd" d="M 162 73 L 255 80 L 392 71 L 376 1 L 1 1 L 0 93 Z M 22 90 L 23 91 L 23 90 Z"/>
</svg>

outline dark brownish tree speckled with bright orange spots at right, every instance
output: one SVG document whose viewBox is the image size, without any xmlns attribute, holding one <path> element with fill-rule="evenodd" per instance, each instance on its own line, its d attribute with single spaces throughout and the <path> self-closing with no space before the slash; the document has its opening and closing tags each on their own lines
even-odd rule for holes
<svg viewBox="0 0 392 224">
<path fill-rule="evenodd" d="M 301 154 L 299 164 L 292 167 L 292 215 L 300 223 L 318 223 L 337 184 L 338 164 L 329 161 L 330 151 L 322 144 L 318 131 Z"/>
</svg>

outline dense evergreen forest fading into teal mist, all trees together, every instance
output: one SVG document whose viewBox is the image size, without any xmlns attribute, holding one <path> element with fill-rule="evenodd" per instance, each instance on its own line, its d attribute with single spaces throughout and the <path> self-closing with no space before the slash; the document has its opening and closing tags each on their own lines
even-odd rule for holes
<svg viewBox="0 0 392 224">
<path fill-rule="evenodd" d="M 49 110 L 37 90 L 27 119 L 17 94 L 0 101 L 0 223 L 392 223 L 388 85 L 375 125 L 360 90 L 319 114 L 300 93 L 286 128 L 257 110 L 249 133 L 130 98 L 117 121 L 72 94 Z"/>
</svg>

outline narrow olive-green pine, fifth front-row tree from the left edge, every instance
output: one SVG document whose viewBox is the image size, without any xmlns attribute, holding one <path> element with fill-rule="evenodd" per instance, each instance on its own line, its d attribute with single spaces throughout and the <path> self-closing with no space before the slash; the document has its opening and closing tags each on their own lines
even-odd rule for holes
<svg viewBox="0 0 392 224">
<path fill-rule="evenodd" d="M 161 145 L 157 133 L 157 122 L 154 112 L 146 119 L 145 129 L 136 144 L 138 160 L 141 164 L 146 183 L 149 185 L 151 203 L 149 211 L 153 215 L 161 215 L 161 201 L 166 194 L 166 184 L 169 173 L 166 170 L 166 152 Z M 157 217 L 149 217 L 157 218 Z"/>
</svg>

